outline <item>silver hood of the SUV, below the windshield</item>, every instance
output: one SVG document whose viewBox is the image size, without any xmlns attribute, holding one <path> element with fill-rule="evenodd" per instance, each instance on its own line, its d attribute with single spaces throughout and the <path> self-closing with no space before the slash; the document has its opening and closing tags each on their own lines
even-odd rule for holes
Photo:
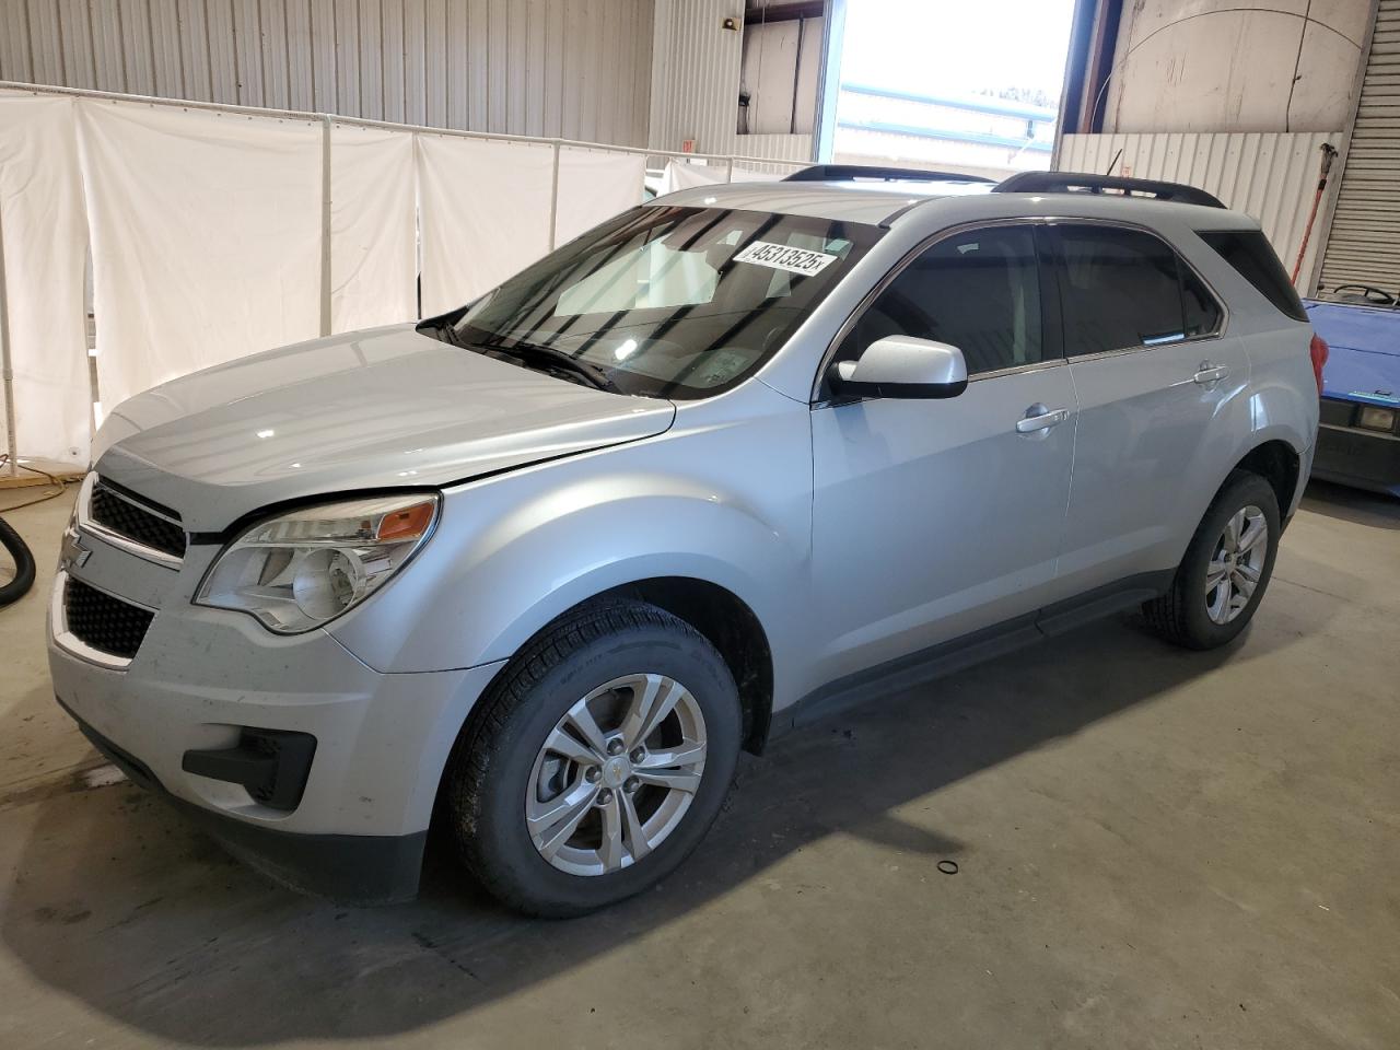
<svg viewBox="0 0 1400 1050">
<path fill-rule="evenodd" d="M 216 532 L 273 503 L 462 482 L 664 433 L 675 406 L 595 391 L 412 325 L 246 357 L 122 403 L 98 472 Z"/>
</svg>

